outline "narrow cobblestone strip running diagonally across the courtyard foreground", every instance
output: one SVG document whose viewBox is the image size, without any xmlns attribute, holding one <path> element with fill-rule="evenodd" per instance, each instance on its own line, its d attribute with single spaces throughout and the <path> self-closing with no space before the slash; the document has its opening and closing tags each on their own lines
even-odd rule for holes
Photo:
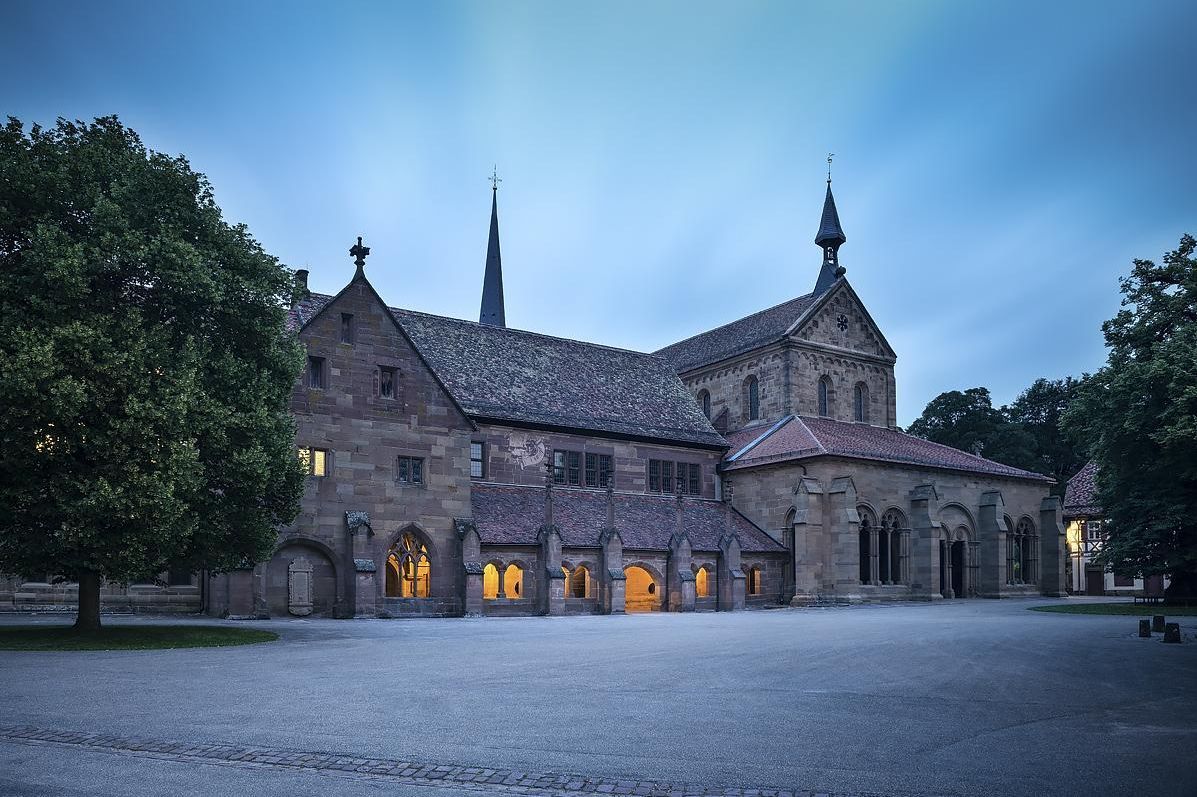
<svg viewBox="0 0 1197 797">
<path fill-rule="evenodd" d="M 268 766 L 302 769 L 330 775 L 379 779 L 389 783 L 468 790 L 503 795 L 636 795 L 638 797 L 864 797 L 837 792 L 813 792 L 801 789 L 760 789 L 700 786 L 625 780 L 553 772 L 521 772 L 484 767 L 443 766 L 427 761 L 396 761 L 338 753 L 305 753 L 266 747 L 233 744 L 196 744 L 150 740 L 138 736 L 81 734 L 48 730 L 32 725 L 0 725 L 0 741 L 23 744 L 53 744 L 87 750 L 138 755 L 170 761 L 219 763 L 231 766 Z M 871 796 L 870 796 L 871 797 Z M 910 797 L 910 795 L 904 795 Z"/>
</svg>

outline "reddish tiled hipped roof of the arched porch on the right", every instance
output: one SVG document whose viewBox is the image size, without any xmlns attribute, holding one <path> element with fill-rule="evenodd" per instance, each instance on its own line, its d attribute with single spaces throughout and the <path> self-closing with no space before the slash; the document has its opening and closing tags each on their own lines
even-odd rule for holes
<svg viewBox="0 0 1197 797">
<path fill-rule="evenodd" d="M 743 442 L 743 438 L 737 437 L 736 442 Z M 735 469 L 815 456 L 853 457 L 1011 479 L 1051 481 L 1049 476 L 1041 474 L 1004 466 L 883 426 L 800 415 L 790 416 L 785 422 L 778 424 L 770 434 L 755 444 L 749 440 L 740 449 L 733 448 L 728 452 L 727 467 Z"/>
</svg>

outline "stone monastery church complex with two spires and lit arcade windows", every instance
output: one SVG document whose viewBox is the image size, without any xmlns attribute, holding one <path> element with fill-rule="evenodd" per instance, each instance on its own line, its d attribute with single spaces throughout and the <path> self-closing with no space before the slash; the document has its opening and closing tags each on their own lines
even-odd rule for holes
<svg viewBox="0 0 1197 797">
<path fill-rule="evenodd" d="M 645 354 L 506 326 L 497 193 L 479 321 L 296 275 L 308 470 L 273 556 L 110 586 L 224 616 L 739 610 L 1062 595 L 1051 480 L 897 427 L 897 354 L 839 264 L 814 290 Z M 62 602 L 0 582 L 0 606 Z M 55 595 L 55 591 L 59 595 Z"/>
</svg>

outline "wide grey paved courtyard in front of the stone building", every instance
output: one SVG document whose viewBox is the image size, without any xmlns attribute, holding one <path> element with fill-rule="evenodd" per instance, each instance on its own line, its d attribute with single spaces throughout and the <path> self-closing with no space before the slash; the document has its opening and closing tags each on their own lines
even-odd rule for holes
<svg viewBox="0 0 1197 797">
<path fill-rule="evenodd" d="M 1197 617 L 1163 645 L 1044 602 L 0 652 L 0 795 L 1197 795 Z"/>
</svg>

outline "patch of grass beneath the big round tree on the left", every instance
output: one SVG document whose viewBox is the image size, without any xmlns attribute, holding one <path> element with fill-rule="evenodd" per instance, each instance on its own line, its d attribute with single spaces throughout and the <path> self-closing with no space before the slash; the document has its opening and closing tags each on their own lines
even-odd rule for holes
<svg viewBox="0 0 1197 797">
<path fill-rule="evenodd" d="M 158 650 L 226 647 L 273 641 L 279 635 L 229 626 L 109 626 L 75 633 L 71 626 L 0 626 L 0 650 Z"/>
</svg>

